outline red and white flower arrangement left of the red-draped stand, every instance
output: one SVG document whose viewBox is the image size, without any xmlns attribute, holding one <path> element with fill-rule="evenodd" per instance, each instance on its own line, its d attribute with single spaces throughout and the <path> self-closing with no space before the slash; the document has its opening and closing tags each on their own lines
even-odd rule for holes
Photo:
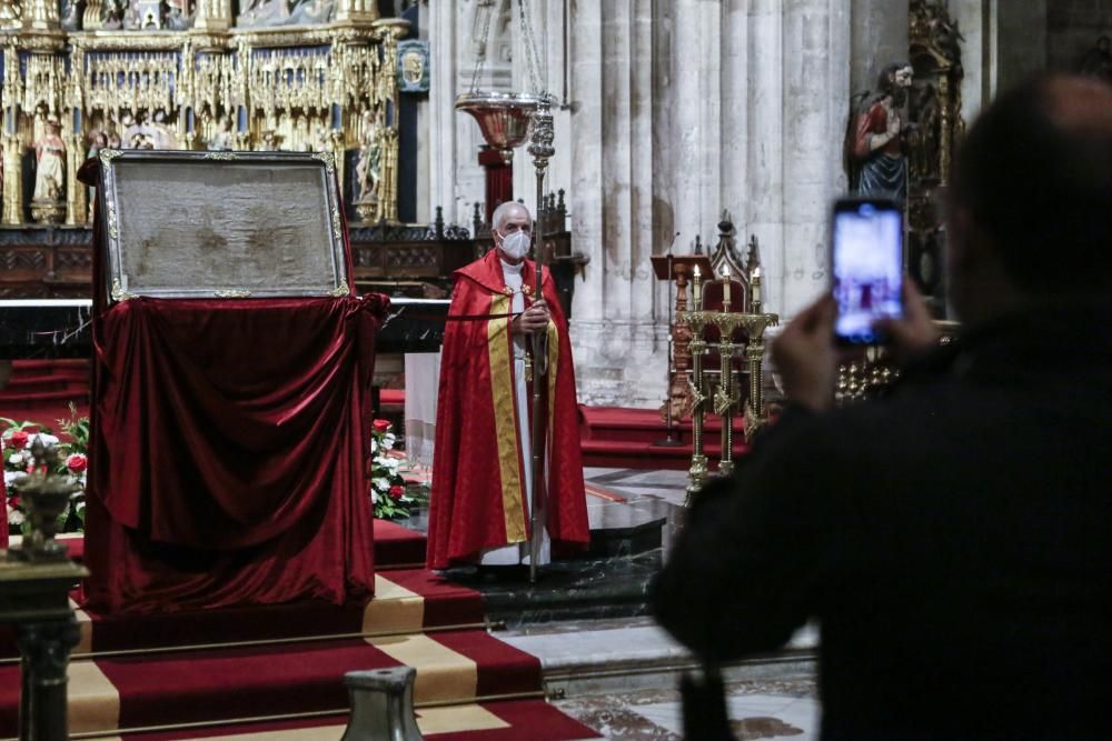
<svg viewBox="0 0 1112 741">
<path fill-rule="evenodd" d="M 89 418 L 77 414 L 77 408 L 70 404 L 70 419 L 58 420 L 58 425 L 69 438 L 61 442 L 51 434 L 50 428 L 23 420 L 17 422 L 7 417 L 0 417 L 4 430 L 0 433 L 0 449 L 3 457 L 3 481 L 8 490 L 6 502 L 8 528 L 11 532 L 26 532 L 30 527 L 27 509 L 19 497 L 19 482 L 26 475 L 34 472 L 34 460 L 31 457 L 31 445 L 36 440 L 48 448 L 57 447 L 61 453 L 61 462 L 57 473 L 68 473 L 77 478 L 81 489 L 70 500 L 70 505 L 59 518 L 58 529 L 61 532 L 80 532 L 85 528 L 85 482 L 86 470 L 89 468 Z"/>
</svg>

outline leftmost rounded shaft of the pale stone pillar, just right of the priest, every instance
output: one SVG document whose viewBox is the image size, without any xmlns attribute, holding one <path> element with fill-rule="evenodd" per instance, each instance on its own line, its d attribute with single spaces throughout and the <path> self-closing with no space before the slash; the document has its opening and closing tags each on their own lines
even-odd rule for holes
<svg viewBox="0 0 1112 741">
<path fill-rule="evenodd" d="M 573 232 L 590 263 L 572 333 L 587 403 L 658 404 L 666 381 L 667 329 L 656 321 L 648 261 L 657 248 L 653 6 L 584 3 L 573 26 Z"/>
</svg>

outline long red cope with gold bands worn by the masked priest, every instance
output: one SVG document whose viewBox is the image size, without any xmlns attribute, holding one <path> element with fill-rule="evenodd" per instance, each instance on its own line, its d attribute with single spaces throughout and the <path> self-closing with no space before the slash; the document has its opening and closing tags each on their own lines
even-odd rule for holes
<svg viewBox="0 0 1112 741">
<path fill-rule="evenodd" d="M 532 261 L 523 286 L 536 283 Z M 513 294 L 497 250 L 457 270 L 440 357 L 436 454 L 428 528 L 428 567 L 475 561 L 481 551 L 529 539 L 526 480 L 517 431 L 514 352 L 509 331 Z M 532 303 L 528 289 L 526 307 Z M 575 371 L 567 320 L 552 274 L 544 276 L 548 322 L 548 512 L 555 553 L 589 541 L 579 452 Z M 451 318 L 475 317 L 454 321 Z M 529 399 L 533 398 L 530 384 Z"/>
</svg>

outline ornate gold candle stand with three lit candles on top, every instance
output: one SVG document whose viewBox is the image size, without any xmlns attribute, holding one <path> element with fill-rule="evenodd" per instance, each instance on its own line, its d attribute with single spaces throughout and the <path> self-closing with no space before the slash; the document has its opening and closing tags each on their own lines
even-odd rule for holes
<svg viewBox="0 0 1112 741">
<path fill-rule="evenodd" d="M 739 411 L 741 394 L 734 382 L 733 359 L 737 350 L 744 350 L 749 374 L 749 394 L 745 405 L 745 438 L 751 439 L 753 432 L 765 423 L 764 401 L 761 387 L 763 375 L 761 370 L 764 358 L 764 332 L 780 321 L 777 314 L 761 311 L 761 272 L 755 268 L 749 279 L 751 294 L 748 311 L 733 312 L 731 306 L 729 269 L 723 274 L 722 311 L 703 310 L 703 277 L 696 267 L 693 276 L 693 310 L 681 311 L 677 319 L 691 329 L 692 368 L 688 384 L 694 401 L 692 408 L 692 465 L 688 469 L 687 501 L 703 488 L 708 474 L 707 458 L 704 450 L 704 433 L 706 424 L 706 402 L 712 401 L 711 411 L 722 418 L 722 451 L 718 459 L 718 473 L 728 475 L 734 469 L 734 415 Z M 706 330 L 716 327 L 718 341 L 707 342 Z M 743 330 L 744 342 L 735 342 L 734 333 Z M 714 347 L 718 351 L 719 375 L 718 387 L 708 394 L 704 378 L 703 356 Z"/>
</svg>

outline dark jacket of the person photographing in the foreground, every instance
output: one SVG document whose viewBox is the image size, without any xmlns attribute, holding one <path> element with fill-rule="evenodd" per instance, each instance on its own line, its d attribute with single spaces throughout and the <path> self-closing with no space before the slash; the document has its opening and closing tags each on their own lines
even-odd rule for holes
<svg viewBox="0 0 1112 741">
<path fill-rule="evenodd" d="M 692 509 L 657 617 L 714 661 L 817 620 L 823 739 L 1112 739 L 1110 424 L 1108 306 L 790 410 Z"/>
</svg>

